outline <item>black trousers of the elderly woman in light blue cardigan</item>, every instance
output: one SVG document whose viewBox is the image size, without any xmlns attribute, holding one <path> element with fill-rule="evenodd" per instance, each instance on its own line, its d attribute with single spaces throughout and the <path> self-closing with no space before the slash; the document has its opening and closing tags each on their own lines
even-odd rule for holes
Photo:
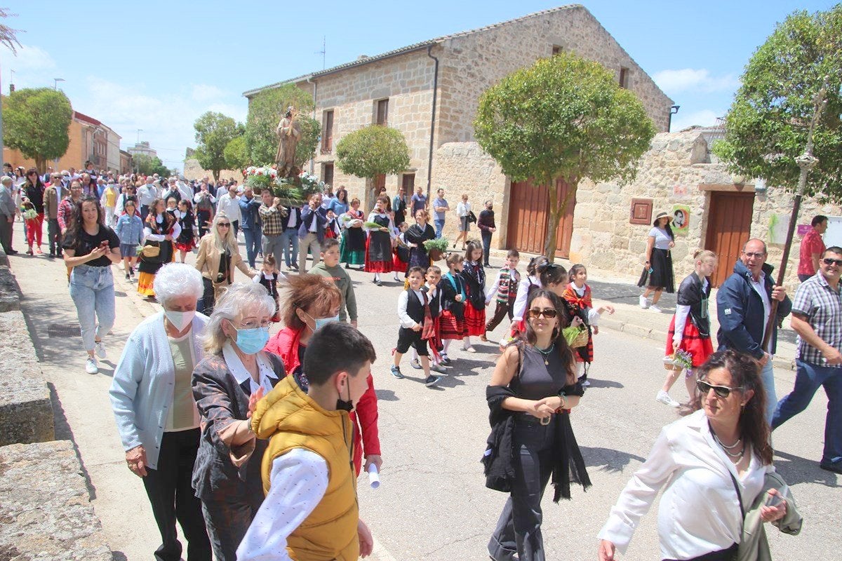
<svg viewBox="0 0 842 561">
<path fill-rule="evenodd" d="M 179 561 L 181 542 L 175 532 L 179 521 L 187 540 L 187 561 L 211 561 L 210 540 L 202 517 L 202 505 L 193 485 L 193 464 L 199 451 L 199 429 L 164 432 L 157 468 L 147 468 L 143 478 L 152 514 L 161 532 L 157 561 Z"/>
</svg>

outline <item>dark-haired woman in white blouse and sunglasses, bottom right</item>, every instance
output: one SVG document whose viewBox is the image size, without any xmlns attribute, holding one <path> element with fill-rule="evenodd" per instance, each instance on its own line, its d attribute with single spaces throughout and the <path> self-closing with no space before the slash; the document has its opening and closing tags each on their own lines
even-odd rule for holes
<svg viewBox="0 0 842 561">
<path fill-rule="evenodd" d="M 761 522 L 797 534 L 801 516 L 772 465 L 765 391 L 757 363 L 715 352 L 698 371 L 695 412 L 663 427 L 600 531 L 600 561 L 626 553 L 662 487 L 662 559 L 770 559 Z"/>
</svg>

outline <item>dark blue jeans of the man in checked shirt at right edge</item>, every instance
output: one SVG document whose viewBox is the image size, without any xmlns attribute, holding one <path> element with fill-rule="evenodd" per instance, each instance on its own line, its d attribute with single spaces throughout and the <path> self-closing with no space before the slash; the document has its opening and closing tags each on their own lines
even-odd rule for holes
<svg viewBox="0 0 842 561">
<path fill-rule="evenodd" d="M 807 409 L 818 387 L 824 386 L 824 393 L 828 396 L 828 414 L 824 419 L 822 463 L 842 462 L 842 368 L 801 360 L 795 363 L 795 387 L 777 404 L 772 430 Z"/>
</svg>

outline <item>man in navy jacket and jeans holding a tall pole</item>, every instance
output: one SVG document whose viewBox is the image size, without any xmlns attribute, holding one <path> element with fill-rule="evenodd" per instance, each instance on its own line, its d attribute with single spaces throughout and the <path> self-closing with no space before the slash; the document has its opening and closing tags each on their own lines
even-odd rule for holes
<svg viewBox="0 0 842 561">
<path fill-rule="evenodd" d="M 772 266 L 766 263 L 766 244 L 752 239 L 745 243 L 740 260 L 734 265 L 733 274 L 717 292 L 717 318 L 719 350 L 733 349 L 743 352 L 760 366 L 760 378 L 766 394 L 766 421 L 771 423 L 775 413 L 775 377 L 772 355 L 777 344 L 777 328 L 789 315 L 792 303 L 783 287 L 772 283 Z M 769 347 L 763 347 L 763 336 L 772 299 L 778 300 L 777 318 L 772 327 Z"/>
</svg>

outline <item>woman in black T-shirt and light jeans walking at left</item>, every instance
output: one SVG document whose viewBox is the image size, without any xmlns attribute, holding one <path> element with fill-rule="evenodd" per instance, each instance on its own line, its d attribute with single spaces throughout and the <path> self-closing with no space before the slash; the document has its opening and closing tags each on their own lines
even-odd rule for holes
<svg viewBox="0 0 842 561">
<path fill-rule="evenodd" d="M 85 372 L 89 374 L 99 372 L 93 354 L 105 358 L 102 337 L 114 326 L 115 319 L 111 263 L 120 262 L 120 238 L 103 220 L 99 198 L 81 199 L 61 243 L 64 262 L 72 268 L 70 295 L 76 304 L 82 341 L 88 351 Z"/>
</svg>

